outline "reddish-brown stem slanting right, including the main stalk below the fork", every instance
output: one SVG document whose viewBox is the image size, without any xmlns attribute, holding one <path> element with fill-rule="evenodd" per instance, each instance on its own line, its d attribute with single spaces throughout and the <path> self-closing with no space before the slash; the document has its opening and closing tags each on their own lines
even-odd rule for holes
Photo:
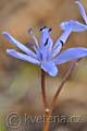
<svg viewBox="0 0 87 131">
<path fill-rule="evenodd" d="M 63 85 L 64 83 L 66 82 L 67 78 L 70 76 L 71 72 L 73 71 L 73 69 L 75 68 L 76 63 L 79 61 L 80 59 L 77 59 L 75 61 L 72 62 L 72 64 L 70 66 L 70 69 L 66 71 L 59 88 L 57 90 L 53 98 L 52 98 L 52 102 L 51 102 L 51 105 L 50 105 L 50 108 L 45 108 L 45 121 L 44 121 L 44 128 L 42 128 L 42 131 L 49 131 L 49 126 L 50 126 L 50 117 L 52 117 L 52 110 L 53 110 L 53 107 L 57 103 L 57 98 L 61 92 L 61 90 L 63 88 Z M 44 100 L 45 104 L 46 104 L 46 99 Z M 46 107 L 46 106 L 45 106 Z"/>
</svg>

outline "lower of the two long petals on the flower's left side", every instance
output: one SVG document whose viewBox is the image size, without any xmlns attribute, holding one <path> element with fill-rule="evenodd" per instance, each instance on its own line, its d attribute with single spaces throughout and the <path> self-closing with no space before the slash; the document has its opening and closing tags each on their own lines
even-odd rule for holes
<svg viewBox="0 0 87 131">
<path fill-rule="evenodd" d="M 24 61 L 27 61 L 27 62 L 30 62 L 30 63 L 35 63 L 35 64 L 37 64 L 37 66 L 40 64 L 40 62 L 39 62 L 38 60 L 36 60 L 36 59 L 34 59 L 34 58 L 32 58 L 32 57 L 29 57 L 29 56 L 27 56 L 27 55 L 17 52 L 17 51 L 14 50 L 14 49 L 7 49 L 7 52 L 8 52 L 10 56 L 14 57 L 14 58 L 17 58 L 17 59 L 21 59 L 21 60 L 24 60 Z"/>
</svg>

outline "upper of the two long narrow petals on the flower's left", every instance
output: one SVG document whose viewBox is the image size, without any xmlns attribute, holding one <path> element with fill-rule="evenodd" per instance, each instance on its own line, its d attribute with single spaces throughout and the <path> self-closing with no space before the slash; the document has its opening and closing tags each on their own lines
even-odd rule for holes
<svg viewBox="0 0 87 131">
<path fill-rule="evenodd" d="M 37 56 L 30 49 L 28 49 L 26 46 L 24 46 L 23 44 L 21 44 L 20 41 L 17 41 L 9 33 L 3 32 L 2 34 L 4 35 L 4 37 L 8 38 L 8 40 L 10 43 L 12 43 L 13 45 L 17 46 L 21 50 L 23 50 L 24 52 L 26 52 L 27 55 L 29 55 L 29 56 L 32 56 L 34 58 L 37 58 Z"/>
</svg>

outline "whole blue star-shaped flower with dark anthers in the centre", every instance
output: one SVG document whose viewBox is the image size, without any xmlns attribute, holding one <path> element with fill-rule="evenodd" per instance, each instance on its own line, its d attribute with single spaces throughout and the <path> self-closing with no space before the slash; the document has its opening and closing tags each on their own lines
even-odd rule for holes
<svg viewBox="0 0 87 131">
<path fill-rule="evenodd" d="M 49 75 L 55 76 L 58 74 L 57 66 L 87 56 L 87 49 L 82 47 L 70 48 L 60 53 L 62 46 L 65 44 L 71 32 L 72 31 L 70 28 L 64 31 L 64 33 L 53 45 L 53 41 L 50 37 L 50 29 L 48 27 L 42 27 L 40 28 L 41 38 L 40 43 L 38 44 L 38 40 L 30 28 L 28 33 L 35 40 L 33 50 L 17 41 L 9 33 L 3 32 L 3 35 L 10 43 L 17 46 L 24 52 L 18 52 L 15 49 L 7 49 L 7 52 L 10 56 L 39 66 Z"/>
</svg>

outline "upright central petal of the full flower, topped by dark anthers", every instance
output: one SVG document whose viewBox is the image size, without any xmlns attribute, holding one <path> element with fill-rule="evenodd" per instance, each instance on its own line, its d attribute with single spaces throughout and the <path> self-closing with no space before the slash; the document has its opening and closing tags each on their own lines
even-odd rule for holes
<svg viewBox="0 0 87 131">
<path fill-rule="evenodd" d="M 53 41 L 50 37 L 50 28 L 44 27 L 41 33 L 41 39 L 40 39 L 40 48 L 39 48 L 39 56 L 42 61 L 46 61 L 47 59 L 51 58 L 50 52 L 52 50 Z"/>
</svg>

